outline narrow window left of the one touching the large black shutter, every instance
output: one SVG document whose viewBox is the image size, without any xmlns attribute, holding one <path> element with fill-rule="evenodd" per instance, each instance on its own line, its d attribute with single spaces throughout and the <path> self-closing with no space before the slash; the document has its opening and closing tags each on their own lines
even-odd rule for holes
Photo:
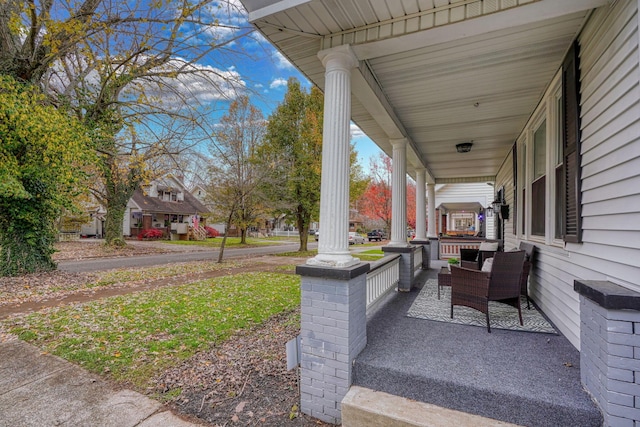
<svg viewBox="0 0 640 427">
<path fill-rule="evenodd" d="M 531 183 L 531 234 L 544 236 L 546 207 L 547 121 L 533 132 L 533 181 Z"/>
</svg>

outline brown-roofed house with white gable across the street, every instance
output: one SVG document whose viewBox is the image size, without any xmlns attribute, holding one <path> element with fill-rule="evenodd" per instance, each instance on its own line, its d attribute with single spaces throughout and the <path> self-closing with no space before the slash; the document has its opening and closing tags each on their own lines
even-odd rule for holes
<svg viewBox="0 0 640 427">
<path fill-rule="evenodd" d="M 123 220 L 125 236 L 136 236 L 149 228 L 161 228 L 168 236 L 185 236 L 189 227 L 204 226 L 203 215 L 209 209 L 195 198 L 181 180 L 167 176 L 138 188 Z"/>
</svg>

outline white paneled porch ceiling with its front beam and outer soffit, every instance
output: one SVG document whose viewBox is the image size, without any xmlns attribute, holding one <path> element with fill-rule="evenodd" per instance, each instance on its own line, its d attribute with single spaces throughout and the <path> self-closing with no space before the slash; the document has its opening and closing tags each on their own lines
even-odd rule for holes
<svg viewBox="0 0 640 427">
<path fill-rule="evenodd" d="M 408 171 L 492 181 L 589 10 L 607 0 L 242 0 L 250 20 L 324 88 L 320 50 L 349 44 L 352 119 Z M 468 153 L 455 145 L 473 141 Z"/>
</svg>

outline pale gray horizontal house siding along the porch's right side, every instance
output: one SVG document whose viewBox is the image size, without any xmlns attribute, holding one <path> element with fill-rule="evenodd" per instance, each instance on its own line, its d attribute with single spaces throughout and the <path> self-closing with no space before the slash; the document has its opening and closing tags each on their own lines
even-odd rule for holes
<svg viewBox="0 0 640 427">
<path fill-rule="evenodd" d="M 574 280 L 607 280 L 640 291 L 640 71 L 638 2 L 594 11 L 580 44 L 582 243 L 531 239 L 538 247 L 530 294 L 580 349 Z M 513 207 L 511 154 L 497 176 Z M 521 167 L 521 165 L 518 165 Z M 553 212 L 553 206 L 547 210 Z M 505 227 L 505 248 L 526 235 Z"/>
</svg>

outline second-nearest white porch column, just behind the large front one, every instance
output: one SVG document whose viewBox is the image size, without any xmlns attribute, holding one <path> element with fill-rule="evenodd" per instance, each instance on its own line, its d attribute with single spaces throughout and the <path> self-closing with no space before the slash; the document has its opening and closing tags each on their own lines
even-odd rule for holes
<svg viewBox="0 0 640 427">
<path fill-rule="evenodd" d="M 407 243 L 407 140 L 392 139 L 393 171 L 391 174 L 391 241 L 389 246 Z"/>
</svg>

